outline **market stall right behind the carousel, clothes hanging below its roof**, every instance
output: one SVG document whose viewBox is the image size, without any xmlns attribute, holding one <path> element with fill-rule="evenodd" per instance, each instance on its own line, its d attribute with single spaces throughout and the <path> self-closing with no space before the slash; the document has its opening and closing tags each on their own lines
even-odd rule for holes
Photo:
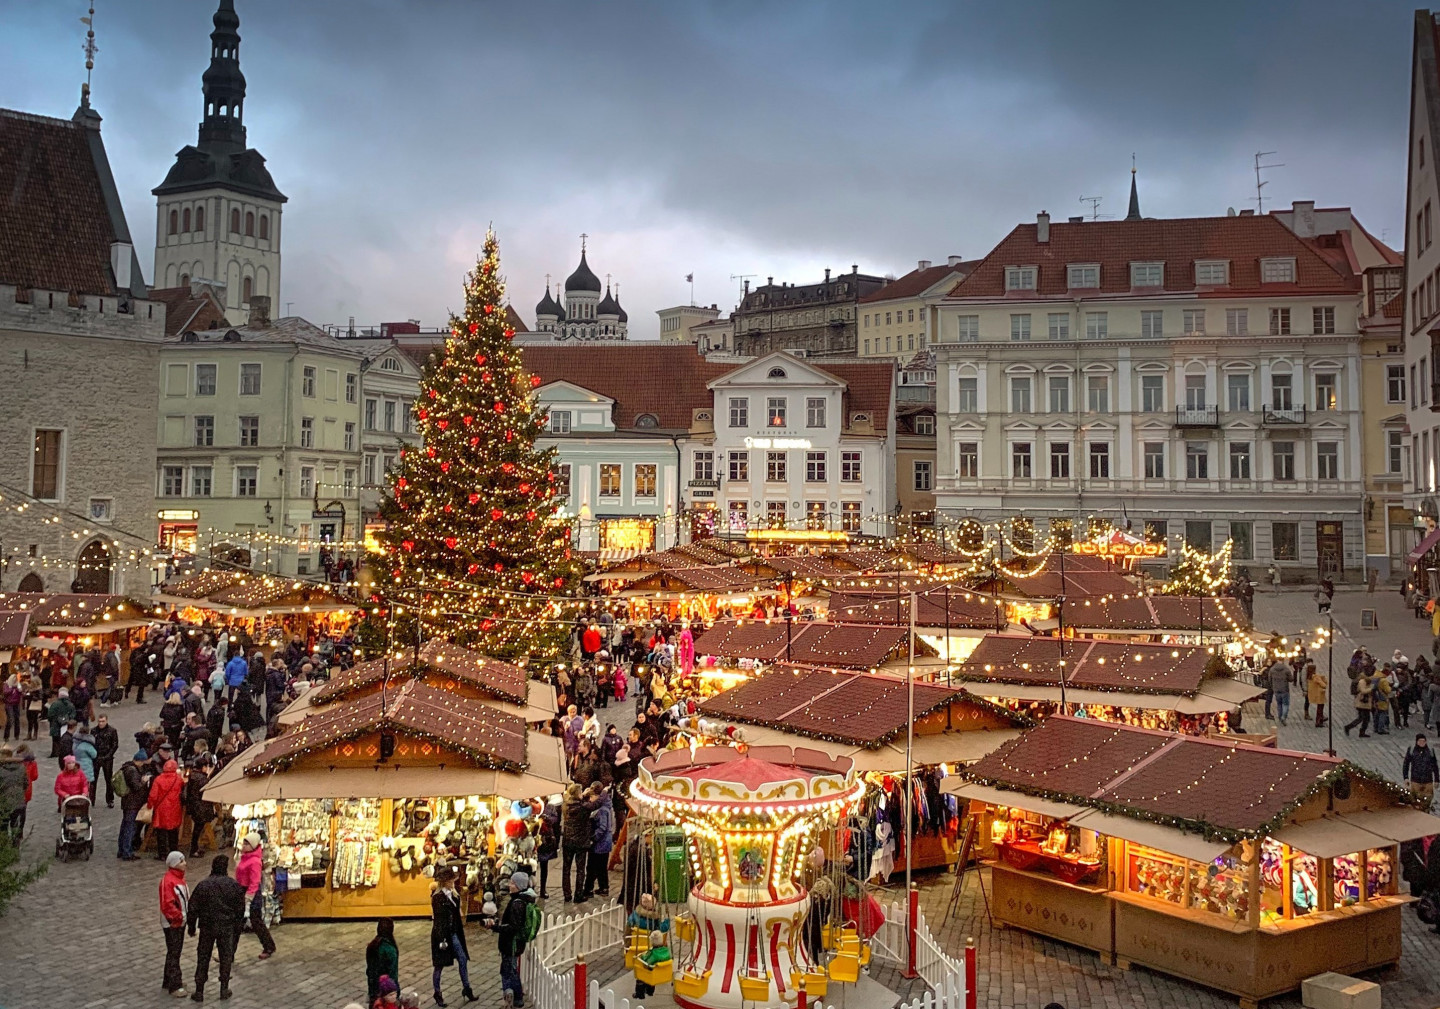
<svg viewBox="0 0 1440 1009">
<path fill-rule="evenodd" d="M 740 738 L 752 746 L 806 746 L 851 760 L 865 783 L 851 828 L 870 839 L 884 835 L 893 843 L 884 864 L 896 872 L 912 861 L 904 846 L 903 800 L 906 787 L 913 786 L 912 868 L 950 865 L 959 816 L 955 800 L 940 793 L 942 780 L 1034 723 L 959 687 L 914 684 L 910 776 L 909 704 L 900 678 L 778 665 L 703 702 L 693 731 L 703 743 Z M 861 851 L 868 856 L 871 848 Z"/>
</svg>

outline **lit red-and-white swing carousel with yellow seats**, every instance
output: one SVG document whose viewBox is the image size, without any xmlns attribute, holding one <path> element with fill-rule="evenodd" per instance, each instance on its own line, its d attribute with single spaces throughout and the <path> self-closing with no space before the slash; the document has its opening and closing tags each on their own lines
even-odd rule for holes
<svg viewBox="0 0 1440 1009">
<path fill-rule="evenodd" d="M 878 926 L 864 913 L 847 920 L 858 901 L 812 902 L 811 891 L 845 894 L 847 881 L 825 867 L 844 864 L 847 810 L 863 790 L 852 760 L 808 748 L 714 746 L 644 760 L 631 787 L 642 831 L 657 845 L 683 843 L 688 890 L 670 915 L 672 960 L 645 963 L 644 937 L 631 938 L 636 977 L 672 982 L 687 1009 L 779 1005 L 802 983 L 812 997 L 855 983 Z M 657 897 L 678 897 L 665 882 L 657 879 Z"/>
</svg>

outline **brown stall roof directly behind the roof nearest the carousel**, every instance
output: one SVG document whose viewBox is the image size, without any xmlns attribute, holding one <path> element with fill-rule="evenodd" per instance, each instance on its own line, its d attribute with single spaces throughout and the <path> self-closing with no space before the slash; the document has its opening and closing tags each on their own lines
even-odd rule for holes
<svg viewBox="0 0 1440 1009">
<path fill-rule="evenodd" d="M 717 620 L 696 639 L 696 655 L 727 659 L 786 659 L 804 665 L 871 669 L 907 653 L 909 628 L 821 620 Z M 786 646 L 789 655 L 786 656 Z M 933 655 L 916 641 L 916 655 Z"/>
</svg>

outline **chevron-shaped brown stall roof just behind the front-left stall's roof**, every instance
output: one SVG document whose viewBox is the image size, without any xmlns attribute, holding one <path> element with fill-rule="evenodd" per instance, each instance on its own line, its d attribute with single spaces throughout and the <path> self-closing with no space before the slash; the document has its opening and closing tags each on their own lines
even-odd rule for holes
<svg viewBox="0 0 1440 1009">
<path fill-rule="evenodd" d="M 456 697 L 495 704 L 518 714 L 527 724 L 554 717 L 554 687 L 549 682 L 531 679 L 523 666 L 432 638 L 408 658 L 369 659 L 334 674 L 328 682 L 301 694 L 281 711 L 279 724 L 294 725 L 336 702 L 376 694 L 386 685 L 396 689 L 410 679 L 420 679 Z"/>
</svg>

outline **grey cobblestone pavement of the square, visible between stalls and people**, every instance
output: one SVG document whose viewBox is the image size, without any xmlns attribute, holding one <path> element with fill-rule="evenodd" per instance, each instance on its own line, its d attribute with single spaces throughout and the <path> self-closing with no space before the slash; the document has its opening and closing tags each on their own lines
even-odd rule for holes
<svg viewBox="0 0 1440 1009">
<path fill-rule="evenodd" d="M 1282 592 L 1256 597 L 1257 623 L 1286 632 L 1310 630 L 1319 625 L 1308 593 Z M 1380 617 L 1377 630 L 1359 630 L 1359 610 L 1372 607 Z M 1336 596 L 1336 671 L 1342 718 L 1351 717 L 1344 664 L 1355 643 L 1365 643 L 1377 655 L 1401 648 L 1416 655 L 1428 648 L 1428 628 L 1411 619 L 1392 592 L 1368 596 L 1341 590 Z M 1318 656 L 1325 662 L 1323 652 Z M 1322 665 L 1323 668 L 1323 665 Z M 1300 707 L 1292 710 L 1290 724 L 1280 730 L 1286 747 L 1323 750 L 1323 730 L 1302 724 Z M 151 714 L 151 708 L 125 705 L 109 711 L 121 731 L 130 734 Z M 602 715 L 603 717 L 603 715 Z M 618 721 L 618 720 L 616 720 Z M 1247 725 L 1261 723 L 1261 711 L 1247 711 Z M 1341 756 L 1398 776 L 1400 757 L 1411 733 L 1359 740 L 1346 738 L 1336 728 L 1335 744 Z M 46 747 L 48 750 L 48 747 Z M 52 783 L 55 761 L 42 759 L 42 779 L 30 805 L 33 833 L 26 842 L 27 855 L 50 859 L 53 852 Z M 49 874 L 12 905 L 0 918 L 0 1009 L 50 1009 L 56 1005 L 92 1009 L 158 1009 L 174 1006 L 160 989 L 164 943 L 160 933 L 157 884 L 161 875 L 154 861 L 118 862 L 114 858 L 120 812 L 96 810 L 95 858 L 89 862 L 53 864 Z M 200 859 L 202 867 L 207 864 Z M 192 869 L 192 882 L 203 868 Z M 1090 1006 L 1148 1006 L 1169 1009 L 1233 1009 L 1236 1000 L 1210 989 L 1136 967 L 1119 970 L 1094 953 L 1015 930 L 991 928 L 985 921 L 979 888 L 971 881 L 958 913 L 948 923 L 945 905 L 952 877 L 926 875 L 917 879 L 926 915 L 943 944 L 956 956 L 968 936 L 979 949 L 979 1005 L 982 1009 L 1041 1009 L 1054 1000 L 1067 1009 Z M 897 891 L 899 894 L 899 891 Z M 549 901 L 552 911 L 573 910 Z M 586 910 L 582 907 L 580 910 Z M 298 923 L 275 930 L 276 956 L 258 962 L 258 943 L 251 936 L 240 940 L 232 982 L 233 1009 L 340 1009 L 364 995 L 364 946 L 373 934 L 370 923 Z M 429 923 L 400 921 L 396 926 L 400 947 L 400 980 L 418 987 L 429 999 Z M 498 956 L 494 937 L 478 928 L 469 931 L 472 953 L 471 977 L 481 1002 L 488 1009 L 500 1006 Z M 1372 972 L 1380 982 L 1387 1009 L 1436 1009 L 1440 1006 L 1440 936 L 1433 934 L 1411 911 L 1404 913 L 1404 954 L 1398 967 Z M 189 986 L 194 970 L 194 946 L 187 940 L 183 959 Z M 590 976 L 602 983 L 621 973 L 618 956 L 602 956 L 592 963 Z M 878 980 L 900 987 L 899 973 L 876 964 Z M 903 990 L 903 989 L 901 989 Z M 454 969 L 445 972 L 444 993 L 459 1002 L 459 980 Z M 219 990 L 212 967 L 207 1000 Z M 621 992 L 628 995 L 628 992 Z M 837 1005 L 842 1005 L 840 997 Z M 1295 1009 L 1297 995 L 1266 1003 L 1273 1009 Z"/>
</svg>

